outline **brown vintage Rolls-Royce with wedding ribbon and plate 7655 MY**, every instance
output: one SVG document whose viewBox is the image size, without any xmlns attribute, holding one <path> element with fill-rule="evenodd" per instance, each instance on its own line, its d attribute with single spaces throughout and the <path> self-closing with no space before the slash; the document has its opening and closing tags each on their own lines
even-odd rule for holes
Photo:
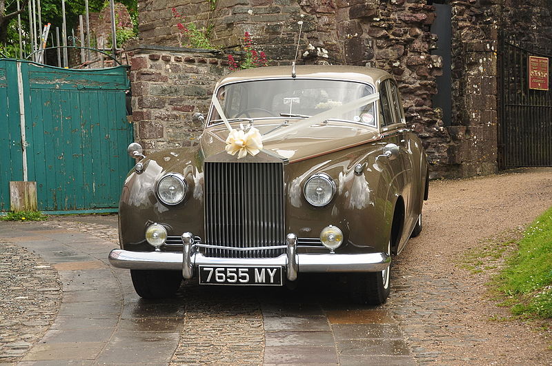
<svg viewBox="0 0 552 366">
<path fill-rule="evenodd" d="M 339 272 L 386 301 L 391 255 L 422 230 L 428 164 L 397 83 L 351 66 L 234 72 L 215 86 L 199 143 L 142 155 L 124 183 L 120 249 L 144 298 L 202 285 L 293 284 Z"/>
</svg>

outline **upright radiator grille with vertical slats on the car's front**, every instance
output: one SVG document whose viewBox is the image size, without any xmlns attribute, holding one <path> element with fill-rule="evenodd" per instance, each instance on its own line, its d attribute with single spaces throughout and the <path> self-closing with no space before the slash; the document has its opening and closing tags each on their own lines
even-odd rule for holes
<svg viewBox="0 0 552 366">
<path fill-rule="evenodd" d="M 282 163 L 205 163 L 206 243 L 226 247 L 285 245 Z M 273 258 L 274 250 L 206 248 L 206 256 Z"/>
</svg>

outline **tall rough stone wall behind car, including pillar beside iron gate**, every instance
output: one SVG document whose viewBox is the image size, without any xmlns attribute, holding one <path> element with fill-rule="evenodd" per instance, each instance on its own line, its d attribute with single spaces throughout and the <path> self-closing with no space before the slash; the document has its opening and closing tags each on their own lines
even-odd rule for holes
<svg viewBox="0 0 552 366">
<path fill-rule="evenodd" d="M 176 24 L 211 30 L 213 45 L 237 49 L 244 32 L 271 65 L 288 64 L 302 20 L 299 63 L 383 68 L 400 84 L 408 125 L 422 137 L 431 176 L 473 176 L 497 170 L 497 38 L 500 28 L 535 41 L 552 38 L 551 0 L 451 0 L 453 119 L 444 126 L 431 96 L 442 60 L 435 49 L 432 1 L 415 0 L 139 0 L 146 44 L 178 45 Z M 176 19 L 172 8 L 184 14 Z M 221 56 L 222 57 L 222 56 Z M 149 120 L 151 121 L 151 119 Z M 157 145 L 161 144 L 161 137 Z"/>
</svg>

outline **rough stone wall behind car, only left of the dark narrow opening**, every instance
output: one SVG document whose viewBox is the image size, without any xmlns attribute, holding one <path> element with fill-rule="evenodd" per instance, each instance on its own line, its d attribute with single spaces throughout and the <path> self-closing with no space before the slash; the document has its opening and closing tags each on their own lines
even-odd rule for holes
<svg viewBox="0 0 552 366">
<path fill-rule="evenodd" d="M 233 48 L 250 32 L 269 63 L 290 64 L 299 26 L 298 63 L 333 63 L 384 68 L 400 84 L 408 124 L 422 136 L 435 165 L 446 174 L 451 139 L 431 107 L 441 60 L 431 55 L 433 6 L 405 0 L 206 0 L 139 1 L 139 35 L 144 43 L 175 46 L 178 21 L 212 27 L 213 44 Z M 175 19 L 172 8 L 186 17 Z M 194 14 L 193 16 L 191 14 Z"/>
</svg>

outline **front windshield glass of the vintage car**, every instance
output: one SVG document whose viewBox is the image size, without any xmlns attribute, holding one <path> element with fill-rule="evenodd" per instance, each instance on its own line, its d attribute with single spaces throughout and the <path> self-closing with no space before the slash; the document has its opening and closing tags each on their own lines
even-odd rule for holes
<svg viewBox="0 0 552 366">
<path fill-rule="evenodd" d="M 371 85 L 324 79 L 269 79 L 224 85 L 217 90 L 230 121 L 290 117 L 303 119 L 373 94 Z M 213 109 L 211 123 L 221 121 Z M 374 103 L 339 113 L 335 120 L 375 125 Z"/>
</svg>

